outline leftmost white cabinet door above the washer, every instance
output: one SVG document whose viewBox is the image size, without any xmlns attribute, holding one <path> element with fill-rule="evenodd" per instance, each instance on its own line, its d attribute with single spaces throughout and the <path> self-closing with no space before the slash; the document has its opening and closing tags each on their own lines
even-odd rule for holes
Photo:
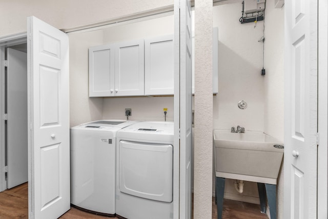
<svg viewBox="0 0 328 219">
<path fill-rule="evenodd" d="M 115 46 L 89 48 L 89 96 L 114 96 Z"/>
</svg>

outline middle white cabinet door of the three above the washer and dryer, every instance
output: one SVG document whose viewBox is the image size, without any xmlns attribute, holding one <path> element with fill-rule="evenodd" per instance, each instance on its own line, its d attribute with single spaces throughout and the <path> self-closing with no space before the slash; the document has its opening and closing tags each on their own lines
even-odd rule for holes
<svg viewBox="0 0 328 219">
<path fill-rule="evenodd" d="M 116 44 L 115 96 L 144 95 L 144 39 Z"/>
</svg>

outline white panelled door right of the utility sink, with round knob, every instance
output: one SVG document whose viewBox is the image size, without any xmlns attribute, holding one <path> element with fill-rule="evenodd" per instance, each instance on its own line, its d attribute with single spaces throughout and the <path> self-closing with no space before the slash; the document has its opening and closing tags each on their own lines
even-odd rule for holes
<svg viewBox="0 0 328 219">
<path fill-rule="evenodd" d="M 284 216 L 317 216 L 317 0 L 285 2 Z"/>
</svg>

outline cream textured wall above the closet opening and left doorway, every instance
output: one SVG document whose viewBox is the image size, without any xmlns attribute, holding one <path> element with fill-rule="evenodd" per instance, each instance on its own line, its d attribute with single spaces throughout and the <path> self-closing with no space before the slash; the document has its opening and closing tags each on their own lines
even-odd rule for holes
<svg viewBox="0 0 328 219">
<path fill-rule="evenodd" d="M 26 31 L 28 16 L 36 16 L 58 29 L 68 29 L 153 9 L 173 9 L 173 0 L 11 0 L 1 1 L 0 6 L 0 36 L 4 36 Z"/>
</svg>

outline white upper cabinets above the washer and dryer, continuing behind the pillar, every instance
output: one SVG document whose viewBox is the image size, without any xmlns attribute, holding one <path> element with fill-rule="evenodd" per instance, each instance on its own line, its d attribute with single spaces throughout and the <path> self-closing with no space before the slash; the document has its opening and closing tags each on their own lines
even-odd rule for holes
<svg viewBox="0 0 328 219">
<path fill-rule="evenodd" d="M 194 46 L 192 52 L 194 93 Z M 217 92 L 218 28 L 213 28 L 213 93 Z M 173 94 L 173 34 L 89 48 L 90 97 Z"/>
</svg>

